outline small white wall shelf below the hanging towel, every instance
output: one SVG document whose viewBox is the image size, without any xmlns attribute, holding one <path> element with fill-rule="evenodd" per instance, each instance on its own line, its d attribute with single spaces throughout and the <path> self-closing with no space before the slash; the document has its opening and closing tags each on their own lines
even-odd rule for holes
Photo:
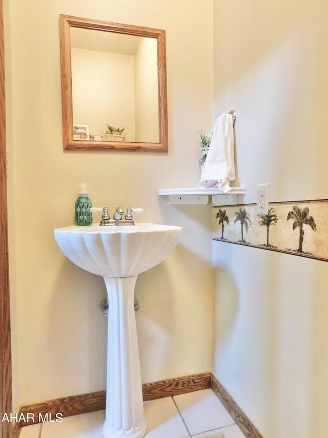
<svg viewBox="0 0 328 438">
<path fill-rule="evenodd" d="M 157 192 L 158 196 L 169 196 L 170 204 L 207 204 L 211 196 L 213 205 L 234 205 L 241 202 L 245 188 L 231 187 L 228 193 L 222 193 L 217 187 L 162 188 Z"/>
</svg>

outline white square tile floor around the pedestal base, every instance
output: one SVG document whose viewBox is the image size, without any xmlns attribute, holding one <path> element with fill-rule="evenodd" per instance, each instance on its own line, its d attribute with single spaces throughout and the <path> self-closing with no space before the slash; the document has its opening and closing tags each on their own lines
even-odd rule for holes
<svg viewBox="0 0 328 438">
<path fill-rule="evenodd" d="M 211 389 L 145 402 L 147 438 L 244 438 Z M 103 438 L 105 411 L 23 427 L 19 438 Z"/>
</svg>

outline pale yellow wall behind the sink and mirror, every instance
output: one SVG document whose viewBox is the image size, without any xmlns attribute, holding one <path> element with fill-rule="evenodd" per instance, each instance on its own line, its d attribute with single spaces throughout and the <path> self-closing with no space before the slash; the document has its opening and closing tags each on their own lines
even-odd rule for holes
<svg viewBox="0 0 328 438">
<path fill-rule="evenodd" d="M 183 227 L 174 253 L 137 281 L 143 382 L 210 370 L 211 208 L 170 206 L 157 189 L 196 186 L 200 176 L 197 129 L 212 120 L 212 2 L 7 5 L 14 406 L 105 389 L 103 279 L 69 262 L 53 237 L 73 222 L 81 181 L 95 206 L 142 206 L 139 220 Z M 63 151 L 60 13 L 166 29 L 168 154 Z"/>
</svg>

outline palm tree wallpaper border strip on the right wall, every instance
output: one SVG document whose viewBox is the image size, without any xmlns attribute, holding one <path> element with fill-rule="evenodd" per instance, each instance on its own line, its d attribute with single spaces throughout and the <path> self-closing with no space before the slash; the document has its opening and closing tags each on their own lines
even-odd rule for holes
<svg viewBox="0 0 328 438">
<path fill-rule="evenodd" d="M 328 200 L 213 207 L 213 240 L 328 261 Z"/>
</svg>

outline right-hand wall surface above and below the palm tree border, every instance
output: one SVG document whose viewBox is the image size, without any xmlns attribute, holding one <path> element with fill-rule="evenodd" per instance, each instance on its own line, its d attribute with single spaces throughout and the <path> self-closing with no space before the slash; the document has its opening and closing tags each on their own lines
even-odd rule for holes
<svg viewBox="0 0 328 438">
<path fill-rule="evenodd" d="M 245 202 L 326 199 L 327 3 L 269 3 L 214 0 L 214 119 L 237 111 Z M 214 266 L 215 375 L 265 438 L 328 436 L 328 264 L 214 242 Z"/>
</svg>

